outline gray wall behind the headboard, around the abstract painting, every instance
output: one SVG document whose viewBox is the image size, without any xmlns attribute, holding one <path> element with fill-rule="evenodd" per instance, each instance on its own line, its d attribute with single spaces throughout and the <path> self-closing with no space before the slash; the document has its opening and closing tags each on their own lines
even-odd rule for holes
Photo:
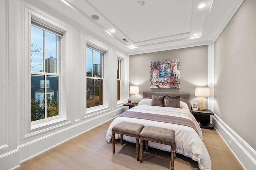
<svg viewBox="0 0 256 170">
<path fill-rule="evenodd" d="M 180 89 L 150 89 L 150 62 L 171 59 L 180 59 Z M 142 92 L 189 92 L 190 102 L 200 107 L 194 95 L 196 87 L 208 86 L 208 45 L 130 55 L 130 86 L 134 85 L 140 90 L 136 102 L 142 99 Z M 132 94 L 130 98 L 133 101 Z"/>
</svg>

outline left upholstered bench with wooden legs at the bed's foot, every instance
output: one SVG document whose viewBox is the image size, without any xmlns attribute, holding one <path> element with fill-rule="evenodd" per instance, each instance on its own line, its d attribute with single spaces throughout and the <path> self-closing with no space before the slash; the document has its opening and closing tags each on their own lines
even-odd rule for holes
<svg viewBox="0 0 256 170">
<path fill-rule="evenodd" d="M 139 160 L 139 137 L 144 125 L 138 123 L 131 123 L 126 121 L 121 121 L 120 123 L 112 127 L 112 145 L 113 153 L 115 153 L 115 133 L 121 135 L 120 143 L 123 144 L 123 135 L 135 137 L 136 138 L 136 158 Z"/>
</svg>

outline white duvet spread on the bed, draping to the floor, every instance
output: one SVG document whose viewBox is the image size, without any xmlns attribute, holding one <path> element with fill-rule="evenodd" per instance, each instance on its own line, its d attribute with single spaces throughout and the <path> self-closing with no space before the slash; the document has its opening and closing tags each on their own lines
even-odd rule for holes
<svg viewBox="0 0 256 170">
<path fill-rule="evenodd" d="M 162 114 L 162 115 L 172 115 L 178 117 L 184 117 L 186 119 L 190 119 L 194 122 L 196 129 L 192 127 L 177 125 L 172 123 L 164 123 L 158 121 L 151 121 L 146 119 L 137 119 L 130 117 L 116 117 L 114 121 L 108 127 L 108 131 L 106 133 L 106 140 L 111 142 L 112 139 L 112 127 L 121 121 L 129 121 L 133 123 L 140 123 L 143 125 L 151 125 L 157 127 L 163 127 L 168 129 L 173 129 L 175 131 L 175 143 L 176 143 L 176 153 L 183 154 L 184 156 L 188 156 L 193 160 L 198 162 L 198 166 L 201 170 L 211 170 L 212 163 L 210 160 L 210 156 L 208 151 L 202 141 L 202 131 L 194 116 L 190 113 L 188 109 L 180 109 L 174 107 L 159 107 L 159 106 L 149 106 L 149 105 L 138 105 L 136 107 L 132 107 L 128 111 L 137 111 L 143 113 L 152 113 L 152 114 Z M 120 138 L 119 134 L 115 134 L 115 138 Z M 124 136 L 124 139 L 129 142 L 136 143 L 136 139 L 134 137 Z M 148 146 L 161 149 L 165 151 L 171 151 L 171 147 L 168 145 L 163 145 L 159 143 L 148 142 Z"/>
</svg>

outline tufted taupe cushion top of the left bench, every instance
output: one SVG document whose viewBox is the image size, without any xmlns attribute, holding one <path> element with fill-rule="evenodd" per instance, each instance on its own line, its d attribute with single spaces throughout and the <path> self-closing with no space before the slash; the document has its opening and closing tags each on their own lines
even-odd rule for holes
<svg viewBox="0 0 256 170">
<path fill-rule="evenodd" d="M 139 135 L 144 125 L 138 123 L 131 123 L 127 121 L 121 121 L 120 123 L 112 127 L 112 131 L 122 131 L 134 135 Z"/>
</svg>

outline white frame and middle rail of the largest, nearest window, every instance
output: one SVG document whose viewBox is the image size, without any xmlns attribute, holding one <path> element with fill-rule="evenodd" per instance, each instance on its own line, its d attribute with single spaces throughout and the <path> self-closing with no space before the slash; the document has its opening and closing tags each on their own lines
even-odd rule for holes
<svg viewBox="0 0 256 170">
<path fill-rule="evenodd" d="M 22 139 L 27 137 L 31 137 L 45 131 L 50 131 L 54 128 L 64 126 L 69 124 L 68 115 L 67 115 L 67 108 L 62 103 L 66 103 L 66 98 L 62 98 L 62 92 L 66 91 L 66 86 L 62 87 L 63 84 L 65 85 L 66 82 L 62 82 L 62 76 L 66 76 L 67 72 L 63 71 L 60 73 L 59 76 L 59 89 L 58 89 L 58 104 L 59 104 L 59 117 L 49 117 L 47 121 L 30 121 L 30 99 L 31 99 L 31 87 L 30 87 L 30 78 L 33 72 L 30 71 L 30 25 L 31 19 L 37 20 L 40 23 L 45 23 L 46 25 L 50 25 L 52 28 L 56 28 L 57 30 L 64 33 L 63 38 L 61 40 L 61 51 L 62 53 L 62 63 L 58 63 L 58 67 L 65 68 L 67 66 L 67 54 L 68 54 L 68 32 L 70 30 L 69 27 L 65 26 L 64 24 L 60 23 L 59 21 L 51 19 L 52 17 L 44 15 L 42 12 L 38 12 L 38 10 L 34 10 L 26 4 L 22 4 L 22 117 L 24 117 L 24 121 L 22 121 Z M 62 74 L 63 73 L 63 74 Z M 36 72 L 36 75 L 44 75 L 42 72 Z M 55 74 L 51 73 L 55 76 Z M 50 74 L 49 74 L 50 75 Z M 46 78 L 45 78 L 46 79 Z M 46 88 L 46 87 L 45 87 Z M 63 90 L 64 89 L 64 90 Z"/>
</svg>

